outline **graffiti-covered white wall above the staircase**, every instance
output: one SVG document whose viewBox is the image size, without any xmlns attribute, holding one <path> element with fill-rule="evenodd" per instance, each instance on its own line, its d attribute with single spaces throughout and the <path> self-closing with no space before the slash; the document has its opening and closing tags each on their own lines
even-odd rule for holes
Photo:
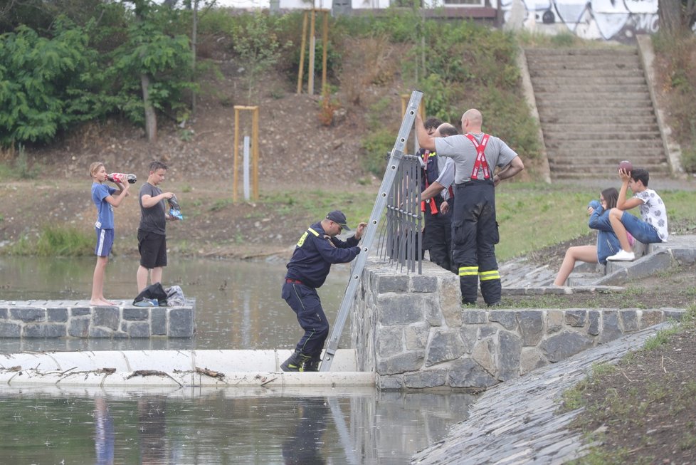
<svg viewBox="0 0 696 465">
<path fill-rule="evenodd" d="M 632 41 L 658 29 L 658 0 L 502 0 L 505 21 L 517 28 L 562 25 L 576 36 Z"/>
</svg>

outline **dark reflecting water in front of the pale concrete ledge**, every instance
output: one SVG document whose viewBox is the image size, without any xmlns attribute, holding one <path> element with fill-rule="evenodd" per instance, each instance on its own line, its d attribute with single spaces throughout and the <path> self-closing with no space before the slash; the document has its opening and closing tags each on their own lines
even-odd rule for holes
<svg viewBox="0 0 696 465">
<path fill-rule="evenodd" d="M 8 464 L 404 464 L 473 397 L 0 391 Z M 415 397 L 413 397 L 415 396 Z"/>
</svg>

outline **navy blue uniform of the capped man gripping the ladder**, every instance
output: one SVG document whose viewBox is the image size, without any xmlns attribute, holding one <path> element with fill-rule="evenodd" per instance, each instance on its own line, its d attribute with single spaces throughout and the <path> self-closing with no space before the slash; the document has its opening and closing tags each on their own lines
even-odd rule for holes
<svg viewBox="0 0 696 465">
<path fill-rule="evenodd" d="M 317 288 L 326 281 L 333 263 L 348 263 L 359 253 L 355 236 L 347 241 L 330 237 L 321 222 L 312 224 L 300 241 L 288 263 L 281 296 L 297 314 L 297 322 L 305 330 L 296 352 L 312 357 L 315 366 L 321 357 L 329 335 L 329 322 L 317 294 Z"/>
</svg>

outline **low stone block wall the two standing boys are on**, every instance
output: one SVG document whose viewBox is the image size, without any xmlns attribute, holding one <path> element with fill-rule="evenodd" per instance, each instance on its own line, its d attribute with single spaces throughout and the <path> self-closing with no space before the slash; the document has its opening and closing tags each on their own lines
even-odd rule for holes
<svg viewBox="0 0 696 465">
<path fill-rule="evenodd" d="M 0 301 L 0 338 L 191 338 L 196 301 L 178 307 Z"/>
</svg>

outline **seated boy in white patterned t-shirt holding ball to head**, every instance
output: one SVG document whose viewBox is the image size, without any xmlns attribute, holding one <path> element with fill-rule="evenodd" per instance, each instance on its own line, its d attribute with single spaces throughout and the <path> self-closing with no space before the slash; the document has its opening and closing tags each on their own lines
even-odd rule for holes
<svg viewBox="0 0 696 465">
<path fill-rule="evenodd" d="M 611 261 L 633 261 L 636 258 L 631 245 L 628 244 L 626 231 L 630 232 L 637 241 L 643 244 L 667 242 L 667 209 L 657 192 L 648 189 L 650 174 L 645 169 L 633 169 L 626 172 L 618 170 L 621 177 L 621 191 L 618 193 L 616 208 L 609 211 L 609 222 L 618 237 L 621 250 L 618 254 L 607 257 Z M 631 188 L 633 197 L 626 199 L 626 191 Z M 628 213 L 629 209 L 640 207 L 640 218 Z"/>
</svg>

